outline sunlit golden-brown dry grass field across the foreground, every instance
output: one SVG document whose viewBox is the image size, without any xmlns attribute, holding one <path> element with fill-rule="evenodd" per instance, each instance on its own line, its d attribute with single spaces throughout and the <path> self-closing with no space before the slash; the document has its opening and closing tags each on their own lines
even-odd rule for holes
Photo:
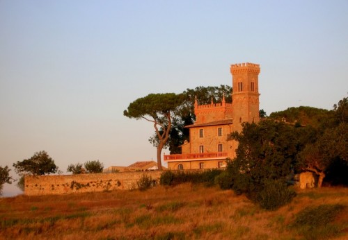
<svg viewBox="0 0 348 240">
<path fill-rule="evenodd" d="M 294 226 L 300 211 L 319 205 L 341 210 L 330 223 Z M 276 211 L 230 190 L 191 184 L 17 196 L 0 198 L 0 239 L 348 239 L 347 206 L 347 188 L 298 191 Z"/>
</svg>

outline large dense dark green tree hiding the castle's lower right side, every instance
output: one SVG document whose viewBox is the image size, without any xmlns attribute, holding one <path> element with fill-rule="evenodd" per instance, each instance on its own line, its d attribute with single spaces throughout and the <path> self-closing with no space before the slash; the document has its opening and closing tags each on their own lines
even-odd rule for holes
<svg viewBox="0 0 348 240">
<path fill-rule="evenodd" d="M 285 180 L 292 173 L 298 153 L 294 127 L 283 122 L 243 123 L 242 132 L 232 132 L 230 139 L 239 142 L 234 160 L 227 170 L 232 189 L 257 200 L 270 180 Z"/>
</svg>

